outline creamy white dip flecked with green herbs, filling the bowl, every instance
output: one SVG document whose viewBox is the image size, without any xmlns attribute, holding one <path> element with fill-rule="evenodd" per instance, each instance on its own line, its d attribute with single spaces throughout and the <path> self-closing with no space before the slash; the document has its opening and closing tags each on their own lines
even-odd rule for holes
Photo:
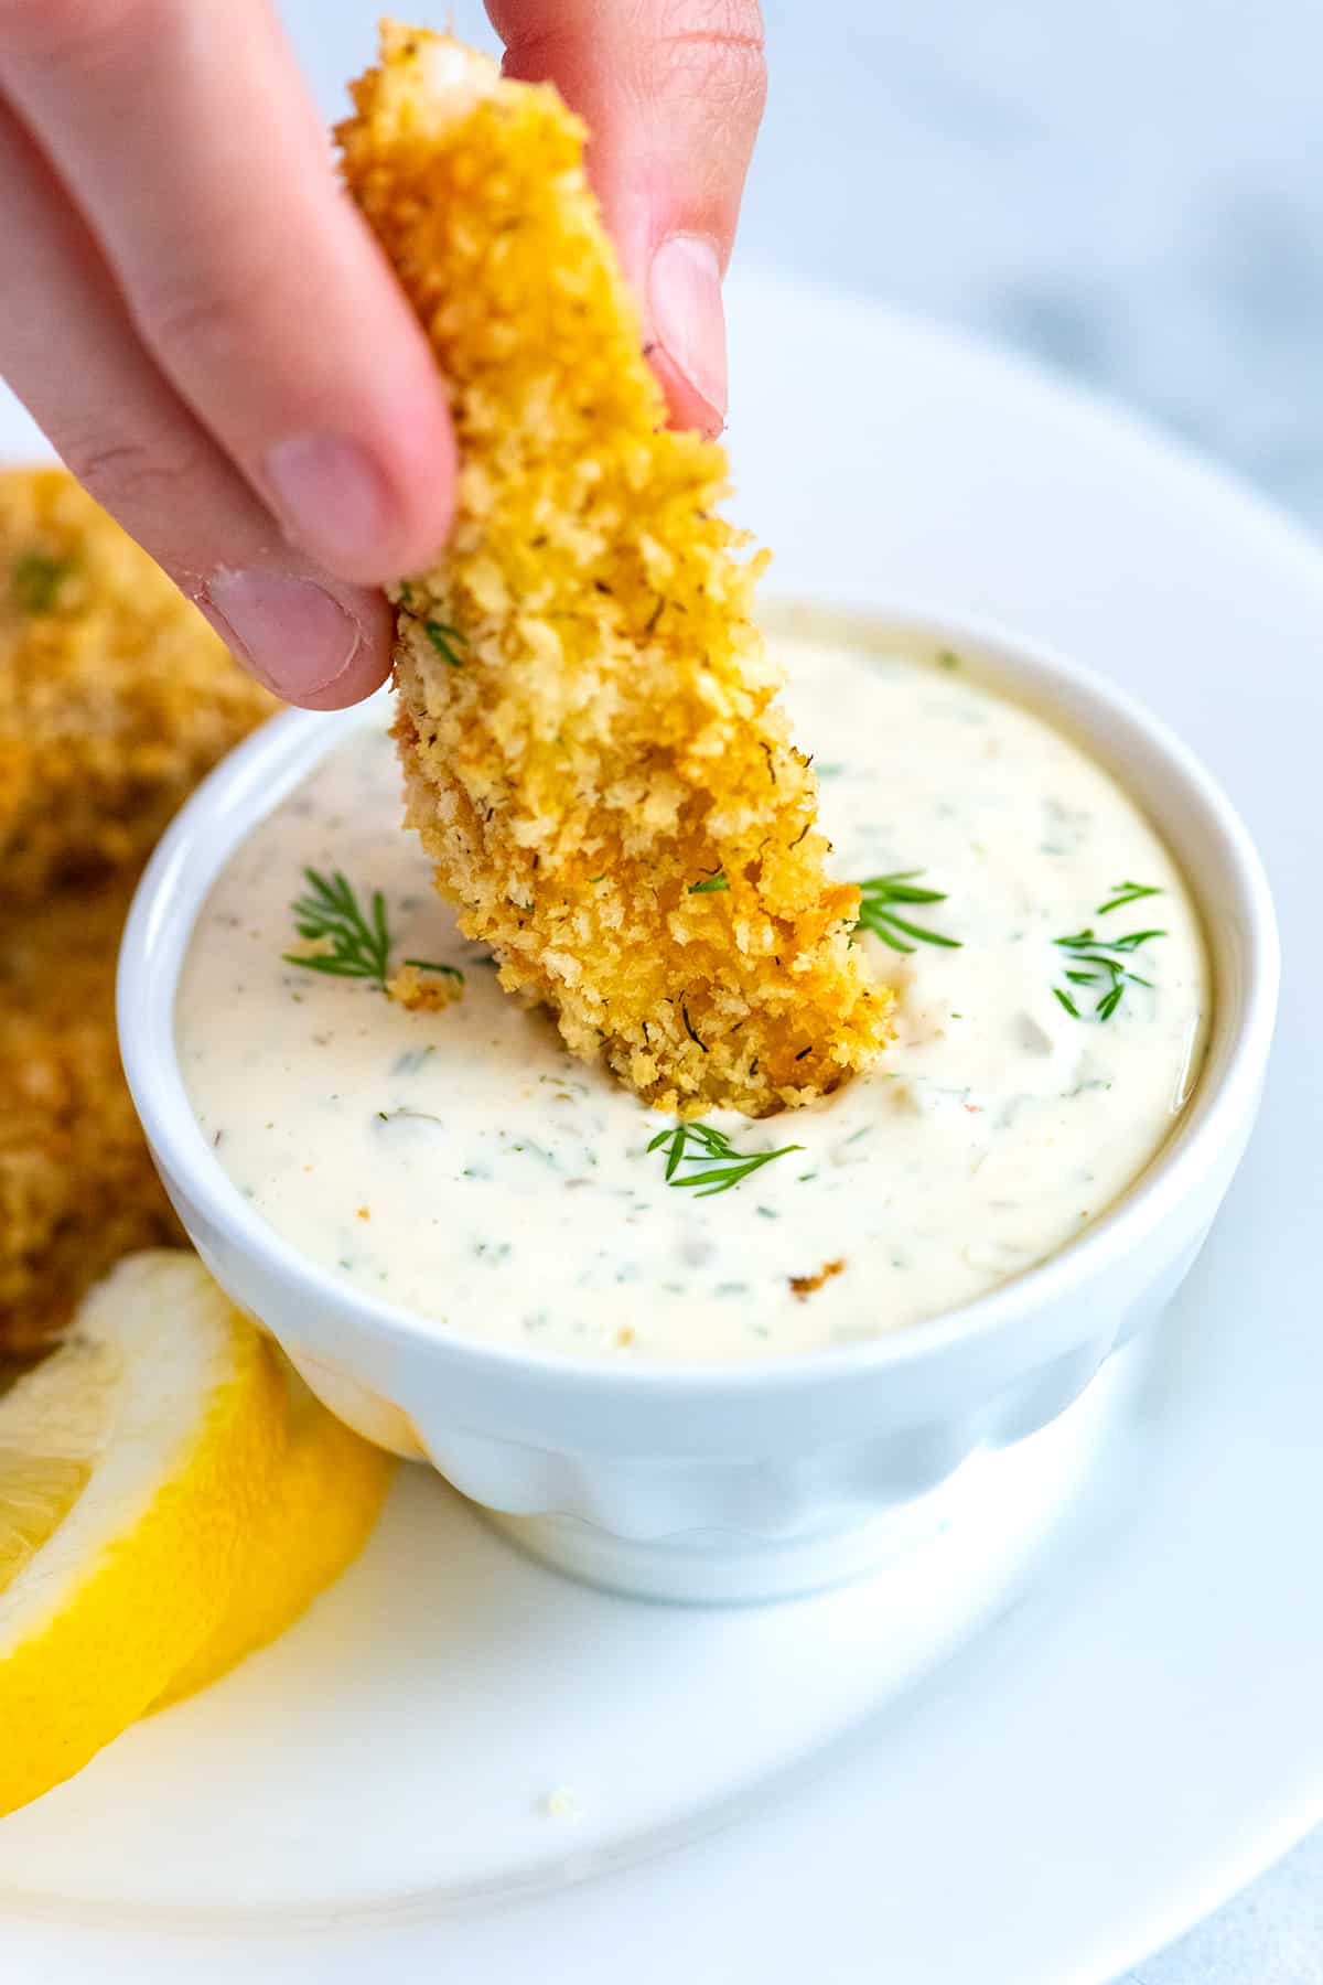
<svg viewBox="0 0 1323 1985">
<path fill-rule="evenodd" d="M 500 991 L 399 828 L 389 740 L 365 728 L 230 860 L 179 989 L 198 1122 L 278 1233 L 438 1330 L 768 1358 L 968 1302 L 1135 1181 L 1190 1094 L 1210 998 L 1162 842 L 1107 772 L 960 657 L 782 649 L 835 871 L 920 869 L 944 901 L 897 915 L 960 945 L 902 955 L 861 935 L 899 992 L 877 1070 L 811 1110 L 708 1118 L 742 1153 L 803 1149 L 706 1199 L 668 1185 L 649 1143 L 670 1120 Z M 305 867 L 343 871 L 363 905 L 381 889 L 393 963 L 458 967 L 462 998 L 409 1012 L 365 979 L 284 963 Z M 1123 883 L 1160 893 L 1101 913 Z M 1107 1018 L 1115 973 L 1057 943 L 1087 929 L 1109 945 L 1162 933 L 1109 951 L 1135 977 Z"/>
</svg>

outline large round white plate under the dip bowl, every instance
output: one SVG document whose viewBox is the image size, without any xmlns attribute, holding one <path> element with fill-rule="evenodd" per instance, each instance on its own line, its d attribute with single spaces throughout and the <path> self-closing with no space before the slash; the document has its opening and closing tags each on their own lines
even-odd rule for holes
<svg viewBox="0 0 1323 1985">
<path fill-rule="evenodd" d="M 409 1477 L 294 1634 L 4 1822 L 16 1977 L 1085 1985 L 1323 1816 L 1323 564 L 962 339 L 756 282 L 734 324 L 738 514 L 780 590 L 1073 649 L 1260 836 L 1289 973 L 1228 1211 L 1170 1326 L 1029 1451 L 1063 1503 L 1014 1550 L 958 1530 L 893 1584 L 649 1608 Z"/>
</svg>

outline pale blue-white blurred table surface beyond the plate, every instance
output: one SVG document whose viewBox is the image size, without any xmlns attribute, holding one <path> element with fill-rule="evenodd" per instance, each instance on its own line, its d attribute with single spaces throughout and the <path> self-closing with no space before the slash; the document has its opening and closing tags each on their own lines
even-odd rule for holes
<svg viewBox="0 0 1323 1985">
<path fill-rule="evenodd" d="M 327 115 L 367 0 L 286 0 Z M 488 40 L 476 0 L 401 12 Z M 920 306 L 1323 516 L 1313 0 L 766 0 L 742 258 Z M 1323 1985 L 1323 1838 L 1125 1985 Z M 970 1981 L 976 1985 L 976 1981 Z"/>
</svg>

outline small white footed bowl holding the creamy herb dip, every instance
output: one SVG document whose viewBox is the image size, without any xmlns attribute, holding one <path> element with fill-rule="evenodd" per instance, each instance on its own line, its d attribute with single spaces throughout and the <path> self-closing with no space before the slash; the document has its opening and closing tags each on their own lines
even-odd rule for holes
<svg viewBox="0 0 1323 1985">
<path fill-rule="evenodd" d="M 871 615 L 865 639 L 887 637 L 912 651 L 958 647 L 1121 776 L 1194 889 L 1214 971 L 1196 1094 L 1143 1179 L 1069 1249 L 934 1322 L 750 1366 L 540 1356 L 373 1300 L 262 1221 L 192 1118 L 175 987 L 230 852 L 363 711 L 290 713 L 232 752 L 161 842 L 125 929 L 129 1088 L 216 1278 L 353 1427 L 428 1457 L 549 1562 L 623 1590 L 704 1600 L 807 1590 L 946 1521 L 966 1457 L 1045 1427 L 1170 1300 L 1258 1108 L 1277 931 L 1260 860 L 1208 772 L 1127 695 L 998 627 Z"/>
</svg>

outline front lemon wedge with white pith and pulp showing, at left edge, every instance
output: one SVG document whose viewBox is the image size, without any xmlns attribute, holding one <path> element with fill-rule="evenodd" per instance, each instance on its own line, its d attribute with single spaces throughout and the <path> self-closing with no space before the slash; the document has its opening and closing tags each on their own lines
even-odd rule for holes
<svg viewBox="0 0 1323 1985">
<path fill-rule="evenodd" d="M 286 1425 L 274 1350 L 184 1253 L 123 1260 L 0 1395 L 0 1814 L 216 1632 Z"/>
</svg>

